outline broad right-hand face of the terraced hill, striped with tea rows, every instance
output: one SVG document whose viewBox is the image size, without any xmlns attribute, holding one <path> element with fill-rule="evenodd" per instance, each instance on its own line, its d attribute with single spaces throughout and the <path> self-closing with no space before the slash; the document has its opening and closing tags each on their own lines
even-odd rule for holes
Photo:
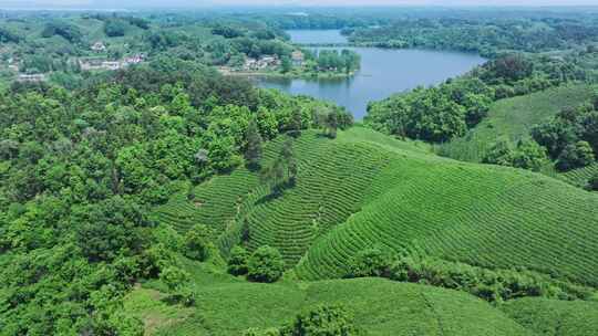
<svg viewBox="0 0 598 336">
<path fill-rule="evenodd" d="M 315 243 L 300 277 L 343 276 L 359 251 L 382 244 L 598 284 L 597 195 L 501 167 L 396 158 L 386 169 L 388 191 Z"/>
</svg>

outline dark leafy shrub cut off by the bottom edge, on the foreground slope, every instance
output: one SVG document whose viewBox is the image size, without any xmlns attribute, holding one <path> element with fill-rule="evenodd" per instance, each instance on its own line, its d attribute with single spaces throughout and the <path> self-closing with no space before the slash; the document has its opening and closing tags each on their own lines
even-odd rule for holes
<svg viewBox="0 0 598 336">
<path fill-rule="evenodd" d="M 283 336 L 351 336 L 359 335 L 352 316 L 341 305 L 319 305 L 299 314 L 295 322 L 282 328 Z"/>
</svg>

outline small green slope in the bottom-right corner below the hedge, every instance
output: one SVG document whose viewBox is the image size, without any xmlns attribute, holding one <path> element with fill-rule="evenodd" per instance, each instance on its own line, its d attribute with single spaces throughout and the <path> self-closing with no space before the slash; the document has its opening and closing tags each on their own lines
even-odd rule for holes
<svg viewBox="0 0 598 336">
<path fill-rule="evenodd" d="M 598 333 L 598 302 L 520 298 L 502 308 L 539 336 L 595 336 Z"/>
</svg>

